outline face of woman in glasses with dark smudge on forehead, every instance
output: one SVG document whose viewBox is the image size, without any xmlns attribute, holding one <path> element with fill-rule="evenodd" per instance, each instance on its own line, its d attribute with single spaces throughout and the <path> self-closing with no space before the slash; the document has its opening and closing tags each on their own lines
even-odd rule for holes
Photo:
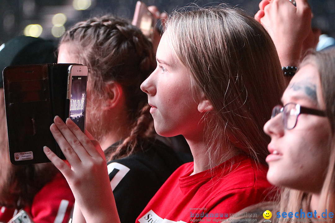
<svg viewBox="0 0 335 223">
<path fill-rule="evenodd" d="M 325 110 L 320 78 L 314 65 L 307 64 L 296 73 L 283 94 L 282 103 Z M 291 108 L 294 104 L 290 104 Z M 287 111 L 287 122 L 283 121 L 283 113 L 279 113 L 264 125 L 264 131 L 271 137 L 270 155 L 266 158 L 267 178 L 277 186 L 320 193 L 330 154 L 329 120 L 312 114 L 297 115 L 295 109 Z M 294 127 L 288 129 L 284 124 Z"/>
</svg>

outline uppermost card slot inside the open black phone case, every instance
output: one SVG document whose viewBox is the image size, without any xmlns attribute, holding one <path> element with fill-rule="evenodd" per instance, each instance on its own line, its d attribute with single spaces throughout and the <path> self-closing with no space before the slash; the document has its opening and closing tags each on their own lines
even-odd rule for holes
<svg viewBox="0 0 335 223">
<path fill-rule="evenodd" d="M 48 80 L 17 81 L 9 83 L 8 89 L 10 92 L 43 91 L 46 86 Z"/>
</svg>

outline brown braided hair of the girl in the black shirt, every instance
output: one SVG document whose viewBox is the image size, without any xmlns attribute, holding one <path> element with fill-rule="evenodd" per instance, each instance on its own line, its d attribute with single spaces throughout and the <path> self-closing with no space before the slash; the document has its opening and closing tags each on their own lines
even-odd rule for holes
<svg viewBox="0 0 335 223">
<path fill-rule="evenodd" d="M 125 93 L 130 135 L 105 152 L 107 160 L 122 158 L 141 149 L 139 141 L 154 136 L 153 119 L 141 83 L 155 69 L 152 43 L 139 28 L 111 15 L 78 22 L 62 36 L 62 43 L 76 48 L 75 56 L 89 69 L 94 94 L 106 97 L 106 84 L 119 83 Z M 111 147 L 110 147 L 111 148 Z"/>
</svg>

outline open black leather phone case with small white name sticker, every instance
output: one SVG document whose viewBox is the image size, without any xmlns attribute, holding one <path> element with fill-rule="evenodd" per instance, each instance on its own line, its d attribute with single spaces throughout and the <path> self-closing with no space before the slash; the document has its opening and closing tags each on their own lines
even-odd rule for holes
<svg viewBox="0 0 335 223">
<path fill-rule="evenodd" d="M 26 65 L 4 69 L 9 155 L 14 165 L 50 162 L 43 146 L 65 159 L 50 132 L 50 125 L 56 115 L 64 121 L 69 117 L 70 65 Z"/>
</svg>

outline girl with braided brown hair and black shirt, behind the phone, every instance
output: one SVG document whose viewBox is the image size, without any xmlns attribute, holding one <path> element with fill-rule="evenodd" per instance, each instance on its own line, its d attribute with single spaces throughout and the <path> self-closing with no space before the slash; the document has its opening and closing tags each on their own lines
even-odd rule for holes
<svg viewBox="0 0 335 223">
<path fill-rule="evenodd" d="M 171 148 L 155 139 L 150 106 L 140 89 L 156 64 L 152 44 L 127 20 L 94 17 L 65 32 L 58 63 L 79 63 L 89 69 L 86 129 L 105 151 L 121 221 L 134 222 L 183 164 Z M 141 193 L 133 194 L 138 190 Z"/>
</svg>

